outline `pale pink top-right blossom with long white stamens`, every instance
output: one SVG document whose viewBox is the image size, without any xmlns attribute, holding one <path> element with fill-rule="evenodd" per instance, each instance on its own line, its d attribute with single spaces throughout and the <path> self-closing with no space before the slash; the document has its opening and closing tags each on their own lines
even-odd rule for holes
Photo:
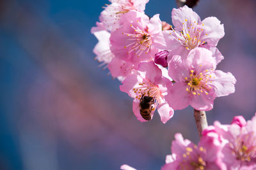
<svg viewBox="0 0 256 170">
<path fill-rule="evenodd" d="M 217 64 L 224 58 L 216 45 L 225 32 L 223 24 L 216 17 L 200 17 L 188 6 L 172 10 L 174 29 L 163 31 L 165 45 L 163 50 L 170 50 L 170 57 L 186 57 L 190 50 L 203 47 L 211 50 Z"/>
</svg>

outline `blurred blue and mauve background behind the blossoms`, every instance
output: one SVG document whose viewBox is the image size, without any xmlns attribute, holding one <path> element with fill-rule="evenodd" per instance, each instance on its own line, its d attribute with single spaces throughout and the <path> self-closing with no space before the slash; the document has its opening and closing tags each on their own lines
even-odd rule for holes
<svg viewBox="0 0 256 170">
<path fill-rule="evenodd" d="M 118 80 L 93 60 L 90 33 L 106 0 L 0 1 L 0 169 L 160 169 L 176 132 L 198 142 L 193 108 L 162 124 L 141 123 Z M 256 111 L 256 1 L 204 0 L 202 19 L 225 26 L 218 69 L 237 79 L 236 92 L 207 111 L 229 124 Z M 145 13 L 171 22 L 174 0 L 150 0 Z"/>
</svg>

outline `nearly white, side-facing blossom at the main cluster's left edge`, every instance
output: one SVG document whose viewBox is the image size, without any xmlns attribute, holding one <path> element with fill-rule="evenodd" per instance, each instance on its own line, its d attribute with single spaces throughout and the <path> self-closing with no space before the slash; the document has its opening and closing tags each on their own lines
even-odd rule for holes
<svg viewBox="0 0 256 170">
<path fill-rule="evenodd" d="M 104 30 L 104 27 L 99 23 L 97 23 L 97 27 L 92 27 L 91 32 L 99 40 L 93 48 L 93 53 L 96 54 L 95 59 L 102 62 L 101 65 L 106 65 L 105 67 L 107 67 L 109 62 L 115 57 L 110 50 L 110 33 Z"/>
</svg>

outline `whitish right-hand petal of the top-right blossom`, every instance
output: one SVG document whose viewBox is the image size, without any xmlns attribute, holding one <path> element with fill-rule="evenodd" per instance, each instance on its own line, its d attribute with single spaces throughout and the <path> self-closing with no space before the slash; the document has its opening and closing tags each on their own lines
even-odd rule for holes
<svg viewBox="0 0 256 170">
<path fill-rule="evenodd" d="M 201 41 L 207 42 L 209 46 L 216 46 L 225 35 L 223 24 L 220 24 L 220 20 L 216 17 L 207 17 L 202 23 L 204 23 L 204 31 L 202 32 Z"/>
</svg>

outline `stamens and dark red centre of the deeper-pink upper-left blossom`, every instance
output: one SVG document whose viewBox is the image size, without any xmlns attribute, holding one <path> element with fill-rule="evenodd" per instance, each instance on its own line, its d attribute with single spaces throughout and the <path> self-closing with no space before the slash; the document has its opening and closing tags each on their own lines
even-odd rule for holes
<svg viewBox="0 0 256 170">
<path fill-rule="evenodd" d="M 122 33 L 129 36 L 128 40 L 130 41 L 130 43 L 124 46 L 124 48 L 131 46 L 131 48 L 129 48 L 128 53 L 135 51 L 137 57 L 140 57 L 141 53 L 143 53 L 144 51 L 145 53 L 149 52 L 152 45 L 152 39 L 150 34 L 148 34 L 147 32 L 148 28 L 146 28 L 145 30 L 141 30 L 138 27 L 135 28 L 132 24 L 131 27 L 134 30 L 133 33 Z"/>
</svg>

